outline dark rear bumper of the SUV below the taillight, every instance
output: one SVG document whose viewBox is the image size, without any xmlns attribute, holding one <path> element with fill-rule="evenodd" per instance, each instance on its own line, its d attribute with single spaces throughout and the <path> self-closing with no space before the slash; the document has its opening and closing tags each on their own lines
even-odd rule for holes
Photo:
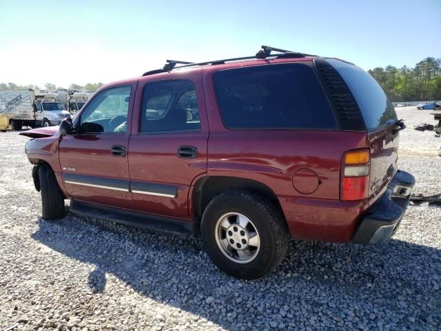
<svg viewBox="0 0 441 331">
<path fill-rule="evenodd" d="M 398 229 L 409 199 L 415 178 L 408 172 L 398 170 L 382 197 L 363 214 L 353 243 L 384 243 Z"/>
</svg>

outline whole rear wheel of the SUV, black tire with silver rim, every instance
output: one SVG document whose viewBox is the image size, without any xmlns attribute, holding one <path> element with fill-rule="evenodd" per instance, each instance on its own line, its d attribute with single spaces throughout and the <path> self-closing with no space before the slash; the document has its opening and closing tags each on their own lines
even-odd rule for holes
<svg viewBox="0 0 441 331">
<path fill-rule="evenodd" d="M 287 252 L 287 226 L 280 212 L 245 191 L 215 197 L 203 213 L 201 232 L 214 264 L 238 278 L 265 276 Z"/>
</svg>

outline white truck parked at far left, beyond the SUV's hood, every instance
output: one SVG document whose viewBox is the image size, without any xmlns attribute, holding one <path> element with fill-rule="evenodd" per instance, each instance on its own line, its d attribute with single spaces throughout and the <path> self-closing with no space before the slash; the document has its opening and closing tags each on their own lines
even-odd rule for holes
<svg viewBox="0 0 441 331">
<path fill-rule="evenodd" d="M 70 118 L 65 110 L 61 94 L 64 91 L 48 90 L 0 90 L 0 116 L 9 118 L 12 130 L 23 126 L 57 126 Z"/>
</svg>

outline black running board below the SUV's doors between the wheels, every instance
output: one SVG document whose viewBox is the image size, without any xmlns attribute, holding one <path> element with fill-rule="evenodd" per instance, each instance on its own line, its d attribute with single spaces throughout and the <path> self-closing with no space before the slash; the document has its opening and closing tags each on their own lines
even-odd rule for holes
<svg viewBox="0 0 441 331">
<path fill-rule="evenodd" d="M 165 232 L 179 236 L 188 236 L 194 233 L 194 225 L 191 221 L 110 208 L 94 203 L 72 200 L 70 201 L 69 210 L 72 214 L 79 216 L 105 219 L 107 221 L 114 221 L 154 232 Z"/>
</svg>

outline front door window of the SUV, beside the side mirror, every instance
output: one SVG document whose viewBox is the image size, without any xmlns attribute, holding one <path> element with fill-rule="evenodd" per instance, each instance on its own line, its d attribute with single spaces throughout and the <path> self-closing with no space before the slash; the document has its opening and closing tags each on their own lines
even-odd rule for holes
<svg viewBox="0 0 441 331">
<path fill-rule="evenodd" d="M 125 132 L 130 86 L 110 88 L 98 94 L 81 114 L 81 132 Z"/>
</svg>

